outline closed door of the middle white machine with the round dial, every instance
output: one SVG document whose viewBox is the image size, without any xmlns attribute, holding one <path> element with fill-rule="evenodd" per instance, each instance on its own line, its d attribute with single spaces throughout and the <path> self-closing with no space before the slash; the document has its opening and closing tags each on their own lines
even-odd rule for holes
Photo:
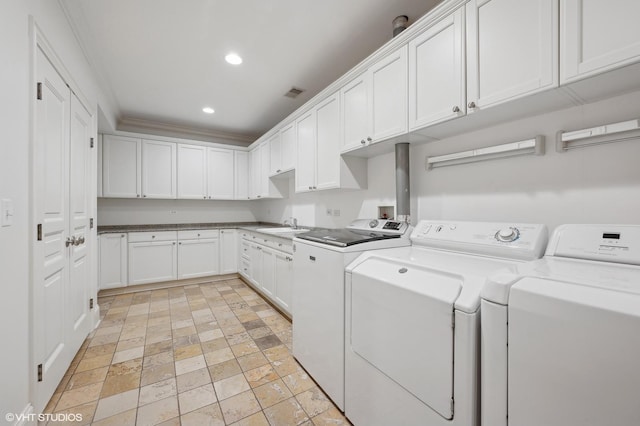
<svg viewBox="0 0 640 426">
<path fill-rule="evenodd" d="M 453 304 L 462 278 L 397 259 L 352 272 L 352 350 L 441 416 L 453 417 Z"/>
</svg>

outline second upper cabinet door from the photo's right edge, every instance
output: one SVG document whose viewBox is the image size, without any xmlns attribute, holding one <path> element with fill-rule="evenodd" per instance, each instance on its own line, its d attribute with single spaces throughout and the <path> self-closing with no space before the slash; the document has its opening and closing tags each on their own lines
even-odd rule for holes
<svg viewBox="0 0 640 426">
<path fill-rule="evenodd" d="M 557 86 L 558 0 L 467 3 L 467 113 Z"/>
</svg>

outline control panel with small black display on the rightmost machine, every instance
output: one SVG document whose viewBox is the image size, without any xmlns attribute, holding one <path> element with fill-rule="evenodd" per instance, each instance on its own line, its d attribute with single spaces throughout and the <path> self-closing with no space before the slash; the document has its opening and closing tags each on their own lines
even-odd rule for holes
<svg viewBox="0 0 640 426">
<path fill-rule="evenodd" d="M 640 265 L 640 225 L 561 225 L 546 255 Z"/>
</svg>

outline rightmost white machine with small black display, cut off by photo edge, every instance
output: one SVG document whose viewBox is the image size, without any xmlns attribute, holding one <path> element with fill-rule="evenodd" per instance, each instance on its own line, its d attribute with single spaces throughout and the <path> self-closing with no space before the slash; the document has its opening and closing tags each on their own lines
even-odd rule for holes
<svg viewBox="0 0 640 426">
<path fill-rule="evenodd" d="M 640 425 L 640 226 L 563 225 L 482 292 L 482 424 Z"/>
</svg>

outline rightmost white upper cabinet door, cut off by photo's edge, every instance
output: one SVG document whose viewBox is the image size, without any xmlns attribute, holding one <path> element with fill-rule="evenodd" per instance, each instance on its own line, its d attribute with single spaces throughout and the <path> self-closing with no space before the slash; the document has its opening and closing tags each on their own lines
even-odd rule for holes
<svg viewBox="0 0 640 426">
<path fill-rule="evenodd" d="M 560 1 L 560 83 L 640 60 L 640 2 Z"/>
</svg>

